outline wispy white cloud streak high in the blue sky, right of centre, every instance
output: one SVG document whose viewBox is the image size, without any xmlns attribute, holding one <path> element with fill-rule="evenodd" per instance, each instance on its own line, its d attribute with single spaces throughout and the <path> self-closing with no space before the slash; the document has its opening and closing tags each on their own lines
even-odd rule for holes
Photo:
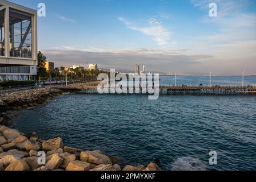
<svg viewBox="0 0 256 182">
<path fill-rule="evenodd" d="M 148 21 L 149 24 L 146 27 L 135 26 L 134 23 L 127 21 L 123 17 L 119 17 L 118 20 L 123 22 L 131 30 L 152 36 L 159 46 L 165 46 L 170 43 L 171 32 L 163 27 L 162 23 L 158 22 L 155 18 L 150 18 Z"/>
</svg>

